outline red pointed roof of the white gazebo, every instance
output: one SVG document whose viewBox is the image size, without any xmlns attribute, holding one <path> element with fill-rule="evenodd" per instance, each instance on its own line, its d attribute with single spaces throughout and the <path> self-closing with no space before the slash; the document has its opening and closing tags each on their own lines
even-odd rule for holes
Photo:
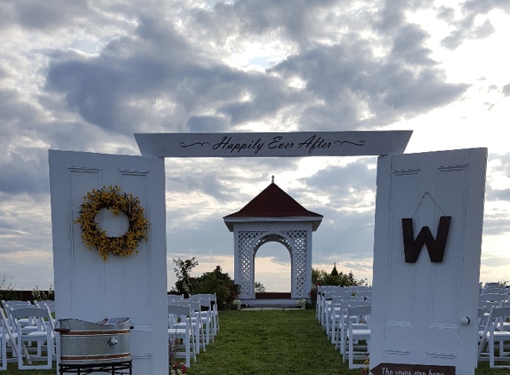
<svg viewBox="0 0 510 375">
<path fill-rule="evenodd" d="M 283 191 L 274 182 L 263 189 L 239 211 L 223 217 L 234 218 L 312 218 L 322 219 L 322 215 L 306 210 L 295 199 Z"/>
</svg>

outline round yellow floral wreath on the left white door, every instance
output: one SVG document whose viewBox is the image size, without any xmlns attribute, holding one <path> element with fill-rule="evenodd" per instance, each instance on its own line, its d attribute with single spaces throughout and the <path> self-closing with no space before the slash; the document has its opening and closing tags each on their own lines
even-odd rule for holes
<svg viewBox="0 0 510 375">
<path fill-rule="evenodd" d="M 106 230 L 102 230 L 95 216 L 101 210 L 107 208 L 113 211 L 115 216 L 124 212 L 129 222 L 129 228 L 124 235 L 109 237 Z M 138 252 L 138 243 L 147 240 L 149 220 L 145 218 L 140 199 L 131 193 L 121 193 L 120 187 L 103 186 L 98 190 L 92 189 L 84 195 L 84 203 L 80 205 L 79 216 L 75 223 L 79 224 L 82 231 L 82 240 L 89 250 L 95 247 L 103 260 L 108 259 L 109 253 L 120 257 L 126 257 Z"/>
</svg>

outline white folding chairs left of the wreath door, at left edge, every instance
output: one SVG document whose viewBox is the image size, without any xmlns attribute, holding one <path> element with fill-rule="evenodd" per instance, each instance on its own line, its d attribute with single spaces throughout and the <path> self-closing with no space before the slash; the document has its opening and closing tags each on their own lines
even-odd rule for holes
<svg viewBox="0 0 510 375">
<path fill-rule="evenodd" d="M 0 370 L 17 362 L 20 370 L 51 369 L 56 356 L 53 301 L 2 301 Z M 36 347 L 32 344 L 36 343 Z M 10 356 L 8 357 L 8 351 Z M 44 362 L 41 364 L 41 362 Z"/>
</svg>

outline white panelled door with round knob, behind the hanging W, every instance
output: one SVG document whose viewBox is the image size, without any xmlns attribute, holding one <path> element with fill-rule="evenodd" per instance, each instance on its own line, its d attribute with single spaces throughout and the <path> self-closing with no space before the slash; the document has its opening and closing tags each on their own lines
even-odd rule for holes
<svg viewBox="0 0 510 375">
<path fill-rule="evenodd" d="M 486 164 L 485 148 L 379 157 L 371 368 L 409 363 L 474 374 Z M 423 247 L 420 232 L 429 233 Z M 407 262 L 405 235 L 414 253 Z"/>
</svg>

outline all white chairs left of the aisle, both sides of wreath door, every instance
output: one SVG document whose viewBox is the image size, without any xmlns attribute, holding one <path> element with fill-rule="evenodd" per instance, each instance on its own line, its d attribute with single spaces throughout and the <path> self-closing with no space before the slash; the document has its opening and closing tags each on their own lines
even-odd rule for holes
<svg viewBox="0 0 510 375">
<path fill-rule="evenodd" d="M 215 294 L 198 294 L 183 299 L 168 296 L 168 339 L 176 358 L 184 358 L 187 367 L 191 357 L 206 350 L 220 331 Z M 24 301 L 2 301 L 0 308 L 0 371 L 7 362 L 18 362 L 24 369 L 51 369 L 56 357 L 53 301 L 35 304 Z M 176 341 L 177 340 L 177 341 Z M 36 342 L 36 352 L 31 343 Z M 179 345 L 175 345 L 175 343 Z M 9 349 L 9 352 L 8 352 Z M 9 355 L 8 355 L 9 354 Z M 41 361 L 45 360 L 44 364 Z M 37 362 L 37 364 L 33 364 Z"/>
</svg>

